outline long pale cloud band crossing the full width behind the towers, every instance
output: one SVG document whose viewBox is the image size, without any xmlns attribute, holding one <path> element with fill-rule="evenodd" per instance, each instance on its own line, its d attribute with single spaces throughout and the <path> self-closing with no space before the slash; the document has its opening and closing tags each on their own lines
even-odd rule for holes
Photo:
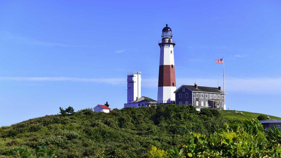
<svg viewBox="0 0 281 158">
<path fill-rule="evenodd" d="M 0 77 L 0 81 L 28 82 L 92 82 L 108 85 L 126 85 L 126 78 L 78 78 L 78 77 Z M 177 87 L 181 85 L 217 87 L 217 79 L 208 78 L 177 78 Z M 143 88 L 157 88 L 158 78 L 143 78 Z M 222 80 L 219 80 L 222 86 Z M 281 94 L 281 78 L 230 78 L 225 79 L 226 92 L 241 92 L 254 94 Z"/>
</svg>

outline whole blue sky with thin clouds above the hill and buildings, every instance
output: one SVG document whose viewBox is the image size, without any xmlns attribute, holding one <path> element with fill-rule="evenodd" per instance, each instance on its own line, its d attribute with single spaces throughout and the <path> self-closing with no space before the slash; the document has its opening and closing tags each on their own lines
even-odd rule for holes
<svg viewBox="0 0 281 158">
<path fill-rule="evenodd" d="M 0 126 L 109 102 L 126 74 L 157 99 L 161 31 L 172 28 L 177 87 L 222 86 L 227 107 L 281 117 L 281 1 L 1 1 Z"/>
</svg>

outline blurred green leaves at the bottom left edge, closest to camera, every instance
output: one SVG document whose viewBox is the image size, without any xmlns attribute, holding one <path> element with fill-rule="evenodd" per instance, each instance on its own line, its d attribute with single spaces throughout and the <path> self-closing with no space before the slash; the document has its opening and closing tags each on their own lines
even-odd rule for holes
<svg viewBox="0 0 281 158">
<path fill-rule="evenodd" d="M 45 146 L 39 147 L 37 146 L 35 149 L 35 156 L 33 156 L 32 152 L 28 149 L 28 147 L 21 146 L 19 148 L 13 149 L 9 155 L 15 155 L 18 158 L 53 158 L 56 155 L 47 150 Z"/>
</svg>

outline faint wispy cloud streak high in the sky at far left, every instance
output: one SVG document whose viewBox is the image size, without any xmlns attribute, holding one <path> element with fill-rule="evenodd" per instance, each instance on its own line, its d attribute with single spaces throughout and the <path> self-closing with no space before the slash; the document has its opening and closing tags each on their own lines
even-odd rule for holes
<svg viewBox="0 0 281 158">
<path fill-rule="evenodd" d="M 14 43 L 20 43 L 20 44 L 28 44 L 28 45 L 35 45 L 35 46 L 45 46 L 45 47 L 85 47 L 85 46 L 79 46 L 79 45 L 72 45 L 72 44 L 63 44 L 63 43 L 56 43 L 56 42 L 46 42 L 42 40 L 35 40 L 28 37 L 20 37 L 20 36 L 14 36 L 10 33 L 1 33 L 1 40 L 10 41 Z"/>
</svg>

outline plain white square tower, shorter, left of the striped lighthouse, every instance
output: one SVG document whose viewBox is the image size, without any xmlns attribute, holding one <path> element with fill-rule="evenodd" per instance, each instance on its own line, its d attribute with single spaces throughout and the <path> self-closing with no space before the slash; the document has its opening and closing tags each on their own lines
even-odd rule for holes
<svg viewBox="0 0 281 158">
<path fill-rule="evenodd" d="M 138 100 L 141 97 L 140 94 L 140 72 L 129 72 L 127 75 L 127 103 L 131 103 L 134 100 Z"/>
</svg>

